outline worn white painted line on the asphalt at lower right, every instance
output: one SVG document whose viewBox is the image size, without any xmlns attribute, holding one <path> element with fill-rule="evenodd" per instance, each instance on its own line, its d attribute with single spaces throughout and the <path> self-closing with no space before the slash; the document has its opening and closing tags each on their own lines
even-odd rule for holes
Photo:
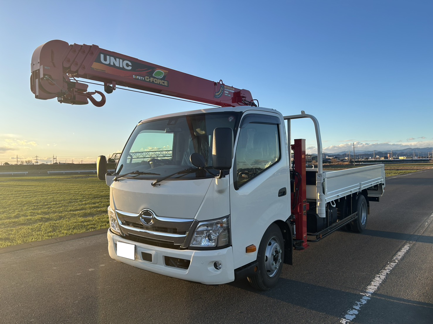
<svg viewBox="0 0 433 324">
<path fill-rule="evenodd" d="M 433 214 L 431 214 L 430 217 L 427 219 L 427 221 L 424 223 L 423 228 L 421 229 L 418 228 L 416 233 L 414 233 L 414 235 L 421 235 L 425 231 L 425 229 L 427 229 L 427 226 L 430 225 L 432 220 L 433 220 Z M 379 286 L 385 281 L 388 274 L 391 273 L 391 270 L 394 269 L 394 267 L 398 264 L 398 262 L 404 257 L 404 254 L 407 251 L 409 251 L 412 245 L 414 245 L 417 239 L 418 238 L 416 238 L 412 243 L 405 244 L 403 248 L 401 248 L 396 254 L 394 254 L 394 257 L 390 261 L 388 261 L 385 267 L 383 267 L 379 271 L 379 273 L 374 277 L 372 282 L 368 284 L 368 286 L 364 289 L 363 292 L 361 292 L 362 295 L 361 299 L 359 299 L 358 302 L 355 302 L 352 308 L 346 312 L 346 315 L 344 315 L 344 317 L 340 319 L 340 323 L 347 324 L 350 321 L 353 321 L 355 319 L 356 315 L 359 314 L 362 305 L 365 305 L 368 302 L 368 300 L 371 299 L 372 295 L 378 290 Z"/>
</svg>

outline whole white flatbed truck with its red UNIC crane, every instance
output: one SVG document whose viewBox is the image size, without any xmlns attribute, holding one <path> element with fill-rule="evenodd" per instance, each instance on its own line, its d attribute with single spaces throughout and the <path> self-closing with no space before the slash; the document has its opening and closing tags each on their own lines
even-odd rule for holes
<svg viewBox="0 0 433 324">
<path fill-rule="evenodd" d="M 105 102 L 73 74 L 107 93 L 129 86 L 222 106 L 140 121 L 113 174 L 98 157 L 98 178 L 110 186 L 108 251 L 123 263 L 205 284 L 247 277 L 270 289 L 294 249 L 336 229 L 362 232 L 369 203 L 383 194 L 384 165 L 324 172 L 317 119 L 258 107 L 247 90 L 63 41 L 41 45 L 32 64 L 40 99 Z M 305 167 L 305 140 L 288 146 L 298 118 L 315 125 L 317 168 Z"/>
</svg>

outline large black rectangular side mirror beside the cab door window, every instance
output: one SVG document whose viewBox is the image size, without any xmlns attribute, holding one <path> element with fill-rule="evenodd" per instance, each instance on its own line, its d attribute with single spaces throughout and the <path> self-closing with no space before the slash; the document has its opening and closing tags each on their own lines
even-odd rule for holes
<svg viewBox="0 0 433 324">
<path fill-rule="evenodd" d="M 215 170 L 232 168 L 233 130 L 229 127 L 217 127 L 213 130 L 212 164 Z"/>
</svg>

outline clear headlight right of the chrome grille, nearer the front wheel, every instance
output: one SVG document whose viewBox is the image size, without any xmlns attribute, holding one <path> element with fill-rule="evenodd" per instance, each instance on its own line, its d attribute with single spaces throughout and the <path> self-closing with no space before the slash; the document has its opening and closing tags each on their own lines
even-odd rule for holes
<svg viewBox="0 0 433 324">
<path fill-rule="evenodd" d="M 230 218 L 199 222 L 191 238 L 191 248 L 223 248 L 231 244 Z"/>
</svg>

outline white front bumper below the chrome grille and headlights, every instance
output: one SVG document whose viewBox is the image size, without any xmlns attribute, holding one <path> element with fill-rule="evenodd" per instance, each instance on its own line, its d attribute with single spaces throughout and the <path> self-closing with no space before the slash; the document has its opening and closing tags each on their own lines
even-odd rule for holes
<svg viewBox="0 0 433 324">
<path fill-rule="evenodd" d="M 107 239 L 110 257 L 133 267 L 208 285 L 229 283 L 235 280 L 232 247 L 201 251 L 160 248 L 126 240 L 122 236 L 113 234 L 110 229 L 107 232 Z M 135 245 L 135 260 L 117 256 L 118 241 Z M 142 252 L 152 254 L 152 261 L 143 260 Z M 190 260 L 191 263 L 187 269 L 172 267 L 165 264 L 165 257 Z M 213 266 L 215 261 L 221 262 L 220 270 L 216 270 Z"/>
</svg>

